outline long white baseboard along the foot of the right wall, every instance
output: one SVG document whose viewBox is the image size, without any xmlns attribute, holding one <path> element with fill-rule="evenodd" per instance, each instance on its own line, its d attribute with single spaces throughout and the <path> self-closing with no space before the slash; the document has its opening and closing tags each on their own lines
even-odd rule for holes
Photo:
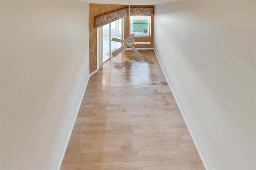
<svg viewBox="0 0 256 170">
<path fill-rule="evenodd" d="M 155 49 L 154 49 L 154 53 L 156 54 Z M 168 85 L 169 85 L 169 87 L 170 87 L 170 89 L 171 89 L 171 91 L 172 91 L 172 95 L 174 96 L 174 99 L 175 99 L 175 101 L 176 101 L 176 103 L 177 103 L 177 105 L 178 105 L 178 108 L 180 109 L 180 113 L 182 114 L 182 117 L 183 117 L 183 119 L 184 119 L 184 121 L 185 121 L 185 123 L 186 123 L 186 125 L 187 125 L 187 127 L 188 127 L 188 131 L 189 131 L 189 133 L 190 133 L 190 135 L 191 135 L 191 137 L 192 137 L 192 140 L 194 141 L 194 144 L 196 145 L 196 149 L 198 150 L 198 153 L 199 153 L 199 155 L 200 155 L 200 158 L 202 159 L 202 162 L 203 162 L 203 164 L 204 164 L 204 167 L 206 168 L 206 170 L 208 170 L 209 168 L 208 168 L 208 166 L 206 165 L 206 162 L 205 162 L 205 160 L 204 160 L 204 157 L 203 157 L 203 155 L 202 155 L 202 152 L 200 151 L 200 148 L 199 148 L 199 146 L 198 146 L 198 144 L 197 144 L 197 142 L 196 142 L 196 139 L 194 138 L 194 135 L 193 135 L 193 133 L 192 133 L 192 130 L 191 130 L 191 128 L 190 128 L 189 125 L 188 125 L 188 121 L 186 120 L 186 117 L 185 117 L 185 115 L 184 115 L 184 113 L 183 113 L 183 111 L 182 111 L 182 109 L 181 109 L 181 107 L 180 107 L 180 104 L 179 104 L 179 102 L 178 102 L 178 100 L 177 100 L 177 97 L 176 97 L 176 95 L 175 95 L 175 93 L 174 93 L 174 91 L 173 91 L 173 89 L 172 89 L 172 86 L 171 86 L 169 80 L 168 80 L 168 77 L 166 76 L 165 70 L 164 70 L 164 68 L 162 67 L 162 64 L 159 62 L 159 57 L 157 56 L 157 54 L 156 54 L 156 58 L 157 58 L 158 63 L 160 64 L 160 67 L 161 67 L 161 69 L 162 69 L 162 71 L 163 71 L 163 73 L 164 73 L 164 77 L 166 78 L 166 81 L 167 81 L 167 83 L 168 83 Z"/>
</svg>

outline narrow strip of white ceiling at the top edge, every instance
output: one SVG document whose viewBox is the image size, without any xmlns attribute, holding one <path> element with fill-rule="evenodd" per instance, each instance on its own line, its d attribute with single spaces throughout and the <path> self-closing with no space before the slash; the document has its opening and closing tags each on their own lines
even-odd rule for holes
<svg viewBox="0 0 256 170">
<path fill-rule="evenodd" d="M 91 4 L 117 4 L 117 5 L 129 5 L 129 0 L 81 0 Z M 166 2 L 172 2 L 176 0 L 130 0 L 131 5 L 156 5 Z"/>
</svg>

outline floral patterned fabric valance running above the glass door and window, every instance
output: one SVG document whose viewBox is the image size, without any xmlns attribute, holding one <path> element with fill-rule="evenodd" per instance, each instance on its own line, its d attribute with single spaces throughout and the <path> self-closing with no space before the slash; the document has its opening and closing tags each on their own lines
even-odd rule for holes
<svg viewBox="0 0 256 170">
<path fill-rule="evenodd" d="M 124 18 L 129 15 L 129 8 L 122 8 L 94 18 L 95 27 L 101 27 L 121 18 Z M 153 16 L 154 8 L 153 7 L 133 7 L 131 8 L 131 16 Z"/>
</svg>

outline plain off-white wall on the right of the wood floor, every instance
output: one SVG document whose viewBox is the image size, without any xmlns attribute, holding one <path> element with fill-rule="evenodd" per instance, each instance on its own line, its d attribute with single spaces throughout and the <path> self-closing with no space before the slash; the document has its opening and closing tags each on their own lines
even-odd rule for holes
<svg viewBox="0 0 256 170">
<path fill-rule="evenodd" d="M 155 6 L 154 49 L 209 169 L 256 169 L 255 8 L 255 1 Z"/>
</svg>

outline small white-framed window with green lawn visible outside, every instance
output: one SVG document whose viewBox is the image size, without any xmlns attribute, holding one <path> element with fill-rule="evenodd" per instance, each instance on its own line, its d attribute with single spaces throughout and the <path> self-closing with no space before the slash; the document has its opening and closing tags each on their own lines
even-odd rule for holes
<svg viewBox="0 0 256 170">
<path fill-rule="evenodd" d="M 134 36 L 150 36 L 150 16 L 131 16 L 130 34 Z"/>
</svg>

